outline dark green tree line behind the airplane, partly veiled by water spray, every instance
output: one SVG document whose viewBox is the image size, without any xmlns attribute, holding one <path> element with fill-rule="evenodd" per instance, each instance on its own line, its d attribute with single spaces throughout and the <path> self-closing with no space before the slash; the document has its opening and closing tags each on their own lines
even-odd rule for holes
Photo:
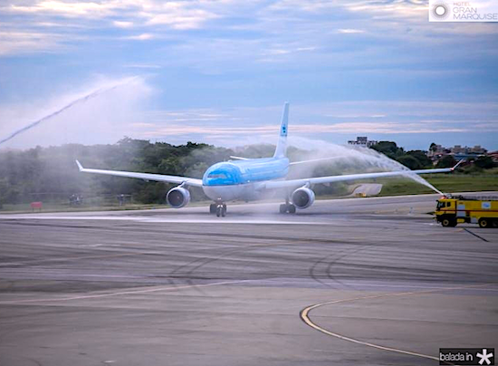
<svg viewBox="0 0 498 366">
<path fill-rule="evenodd" d="M 74 195 L 85 200 L 91 197 L 117 197 L 132 195 L 139 203 L 163 203 L 172 186 L 141 179 L 94 176 L 78 171 L 75 159 L 83 166 L 95 169 L 140 171 L 157 174 L 202 178 L 206 169 L 231 155 L 261 158 L 273 155 L 272 145 L 252 145 L 241 149 L 216 148 L 203 143 L 187 142 L 170 145 L 165 142 L 124 138 L 112 145 L 84 146 L 68 144 L 59 147 L 0 152 L 0 205 L 28 203 L 36 200 L 68 201 Z M 432 162 L 424 151 L 405 152 L 395 142 L 381 141 L 373 149 L 396 159 L 410 169 L 432 168 Z M 302 151 L 301 151 L 302 152 Z M 289 149 L 292 160 L 300 150 Z M 301 155 L 302 157 L 302 155 Z M 444 161 L 453 166 L 455 161 Z M 334 167 L 316 167 L 306 174 L 343 174 L 351 167 L 344 162 Z M 351 172 L 354 172 L 350 170 Z M 337 193 L 342 185 L 317 187 L 317 194 Z M 192 189 L 193 199 L 206 198 L 201 189 Z"/>
</svg>

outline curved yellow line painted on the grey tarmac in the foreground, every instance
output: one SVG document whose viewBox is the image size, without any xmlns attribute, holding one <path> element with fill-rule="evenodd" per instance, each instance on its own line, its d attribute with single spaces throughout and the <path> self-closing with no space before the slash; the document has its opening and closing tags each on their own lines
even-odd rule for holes
<svg viewBox="0 0 498 366">
<path fill-rule="evenodd" d="M 330 335 L 332 337 L 339 338 L 340 340 L 343 340 L 343 341 L 361 344 L 361 345 L 376 348 L 376 349 L 382 350 L 382 351 L 397 352 L 397 353 L 407 354 L 410 356 L 417 356 L 417 357 L 422 357 L 425 359 L 439 361 L 439 358 L 437 358 L 435 356 L 430 356 L 428 354 L 400 350 L 400 349 L 397 349 L 394 347 L 387 347 L 387 346 L 382 346 L 382 345 L 371 343 L 371 342 L 359 341 L 357 339 L 354 339 L 354 338 L 351 338 L 351 337 L 348 337 L 348 336 L 345 336 L 345 335 L 342 335 L 342 334 L 339 334 L 336 332 L 330 332 L 329 330 L 322 328 L 317 323 L 313 323 L 311 321 L 311 319 L 310 319 L 311 310 L 314 310 L 314 309 L 319 308 L 321 306 L 331 305 L 331 304 L 335 304 L 335 303 L 350 303 L 350 302 L 359 301 L 359 300 L 378 299 L 378 298 L 383 298 L 383 297 L 407 296 L 407 295 L 411 295 L 411 294 L 429 294 L 429 293 L 436 293 L 436 292 L 442 292 L 442 291 L 448 291 L 448 290 L 469 289 L 469 288 L 473 288 L 473 287 L 480 287 L 480 286 L 487 286 L 487 285 L 492 285 L 492 284 L 476 284 L 476 285 L 463 286 L 463 287 L 447 287 L 447 288 L 439 288 L 439 289 L 435 289 L 435 290 L 415 291 L 415 292 L 399 293 L 399 294 L 378 294 L 378 295 L 372 295 L 372 296 L 354 297 L 351 299 L 335 300 L 335 301 L 330 301 L 327 303 L 315 303 L 314 305 L 310 305 L 310 306 L 302 309 L 302 311 L 300 313 L 300 317 L 301 317 L 302 321 L 304 323 L 308 324 L 309 326 L 311 326 L 311 328 L 313 328 L 319 332 L 322 332 L 324 334 Z M 453 365 L 453 363 L 449 363 L 449 362 L 447 364 Z"/>
</svg>

